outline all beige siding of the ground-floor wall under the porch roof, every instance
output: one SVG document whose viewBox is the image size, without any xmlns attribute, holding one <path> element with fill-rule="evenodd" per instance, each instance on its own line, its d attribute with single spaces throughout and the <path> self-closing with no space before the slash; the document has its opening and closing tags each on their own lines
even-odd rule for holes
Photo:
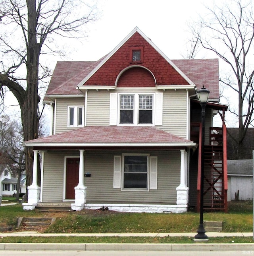
<svg viewBox="0 0 254 256">
<path fill-rule="evenodd" d="M 150 191 L 113 188 L 114 155 L 121 153 L 125 152 L 85 152 L 85 173 L 91 174 L 84 178 L 87 203 L 176 204 L 176 188 L 180 184 L 180 151 L 142 152 L 158 157 L 158 189 Z M 47 152 L 44 155 L 43 202 L 63 200 L 65 156 L 79 157 L 79 151 Z"/>
</svg>

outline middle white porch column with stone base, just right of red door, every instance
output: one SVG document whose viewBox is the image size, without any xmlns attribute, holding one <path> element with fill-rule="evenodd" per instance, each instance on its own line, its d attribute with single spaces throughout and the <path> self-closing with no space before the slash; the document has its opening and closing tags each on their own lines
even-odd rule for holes
<svg viewBox="0 0 254 256">
<path fill-rule="evenodd" d="M 87 202 L 87 187 L 84 186 L 84 149 L 80 149 L 79 157 L 79 184 L 74 188 L 75 189 L 75 203 L 71 204 L 71 209 L 74 211 L 81 211 L 85 207 Z"/>
</svg>

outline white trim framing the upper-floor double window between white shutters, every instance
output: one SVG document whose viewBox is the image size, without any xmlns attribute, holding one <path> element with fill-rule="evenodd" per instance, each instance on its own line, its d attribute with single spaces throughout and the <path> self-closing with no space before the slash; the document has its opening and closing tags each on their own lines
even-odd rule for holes
<svg viewBox="0 0 254 256">
<path fill-rule="evenodd" d="M 134 96 L 133 124 L 120 124 L 120 97 L 121 95 Z M 152 124 L 139 124 L 139 95 L 152 95 Z M 117 97 L 117 125 L 119 126 L 154 126 L 155 124 L 155 93 L 118 93 Z"/>
</svg>

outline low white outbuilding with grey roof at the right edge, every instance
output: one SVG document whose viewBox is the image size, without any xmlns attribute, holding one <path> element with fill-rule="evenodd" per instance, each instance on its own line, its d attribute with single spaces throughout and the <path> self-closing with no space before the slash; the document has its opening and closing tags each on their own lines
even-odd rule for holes
<svg viewBox="0 0 254 256">
<path fill-rule="evenodd" d="M 237 197 L 238 200 L 253 199 L 252 162 L 252 159 L 227 160 L 228 201 Z"/>
</svg>

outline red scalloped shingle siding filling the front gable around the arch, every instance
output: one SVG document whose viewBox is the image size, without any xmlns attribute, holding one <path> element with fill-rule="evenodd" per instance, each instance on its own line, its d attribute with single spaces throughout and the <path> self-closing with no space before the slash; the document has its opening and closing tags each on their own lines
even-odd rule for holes
<svg viewBox="0 0 254 256">
<path fill-rule="evenodd" d="M 189 83 L 138 33 L 136 32 L 111 58 L 106 61 L 85 85 L 115 85 L 118 74 L 130 63 L 130 48 L 142 46 L 143 62 L 155 76 L 157 85 L 188 85 Z"/>
</svg>

